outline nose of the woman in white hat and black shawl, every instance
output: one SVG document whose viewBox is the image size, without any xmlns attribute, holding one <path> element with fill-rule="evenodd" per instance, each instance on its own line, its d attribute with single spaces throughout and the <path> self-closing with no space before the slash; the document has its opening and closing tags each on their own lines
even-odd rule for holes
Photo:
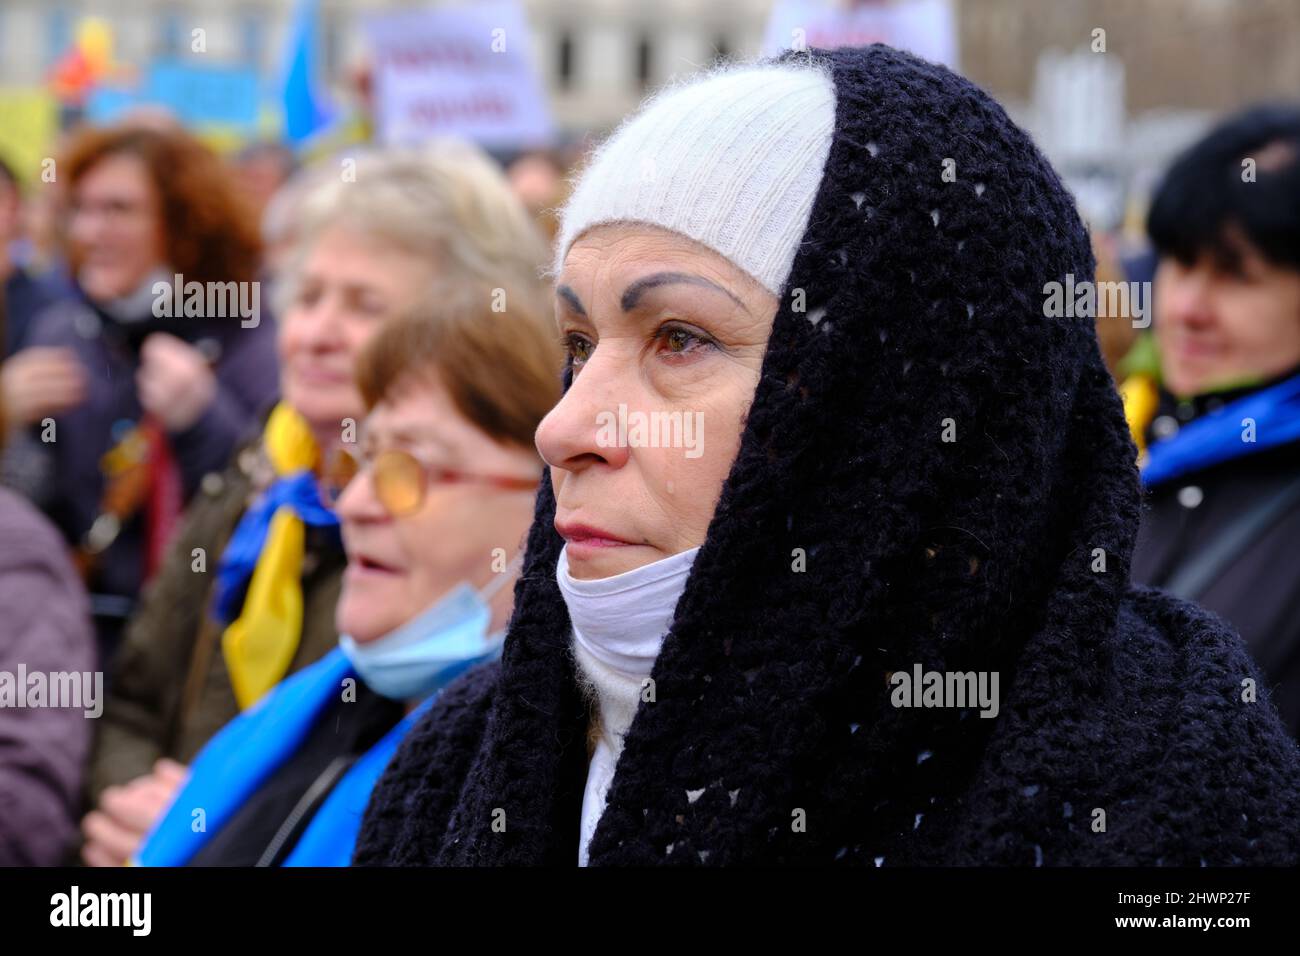
<svg viewBox="0 0 1300 956">
<path fill-rule="evenodd" d="M 573 472 L 593 464 L 621 468 L 627 463 L 625 429 L 618 427 L 633 392 L 620 388 L 627 375 L 614 362 L 602 363 L 595 356 L 588 360 L 537 427 L 537 453 L 542 460 Z"/>
</svg>

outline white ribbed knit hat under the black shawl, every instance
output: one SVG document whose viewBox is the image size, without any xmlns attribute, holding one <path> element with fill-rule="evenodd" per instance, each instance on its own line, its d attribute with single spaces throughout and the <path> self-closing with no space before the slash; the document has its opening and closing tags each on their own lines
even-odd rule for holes
<svg viewBox="0 0 1300 956">
<path fill-rule="evenodd" d="M 746 65 L 651 98 L 611 135 L 560 212 L 555 274 L 601 222 L 708 246 L 780 295 L 831 150 L 835 86 L 810 65 Z"/>
</svg>

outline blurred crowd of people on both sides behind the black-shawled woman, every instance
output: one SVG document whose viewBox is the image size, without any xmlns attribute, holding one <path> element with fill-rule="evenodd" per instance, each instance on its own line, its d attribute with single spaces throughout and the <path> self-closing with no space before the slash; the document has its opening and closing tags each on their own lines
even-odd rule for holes
<svg viewBox="0 0 1300 956">
<path fill-rule="evenodd" d="M 508 160 L 218 156 L 138 117 L 72 130 L 53 182 L 0 165 L 0 671 L 105 695 L 0 709 L 0 864 L 346 864 L 404 728 L 500 653 L 576 172 Z M 1300 732 L 1300 111 L 1225 117 L 1147 226 L 1095 237 L 1098 281 L 1153 291 L 1150 328 L 1096 320 L 1141 455 L 1132 575 L 1222 615 Z M 460 650 L 367 650 L 434 619 Z M 226 770 L 191 779 L 205 750 Z M 187 780 L 198 848 L 166 818 Z"/>
</svg>

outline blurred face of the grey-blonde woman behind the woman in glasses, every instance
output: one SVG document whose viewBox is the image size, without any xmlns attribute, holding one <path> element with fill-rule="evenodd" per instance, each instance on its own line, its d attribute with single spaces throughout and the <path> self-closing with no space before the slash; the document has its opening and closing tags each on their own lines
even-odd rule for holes
<svg viewBox="0 0 1300 956">
<path fill-rule="evenodd" d="M 333 226 L 321 233 L 280 320 L 281 392 L 317 436 L 339 436 L 343 419 L 365 406 L 352 380 L 361 346 L 384 319 L 415 304 L 429 287 L 426 258 L 378 246 Z"/>
</svg>

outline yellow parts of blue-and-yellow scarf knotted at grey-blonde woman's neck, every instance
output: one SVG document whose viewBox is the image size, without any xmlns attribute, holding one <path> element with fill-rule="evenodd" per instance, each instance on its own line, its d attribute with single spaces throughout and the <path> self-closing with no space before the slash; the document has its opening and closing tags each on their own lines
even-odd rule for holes
<svg viewBox="0 0 1300 956">
<path fill-rule="evenodd" d="M 277 476 L 318 470 L 320 450 L 307 421 L 281 402 L 263 432 Z M 248 581 L 239 617 L 221 635 L 221 653 L 240 709 L 257 702 L 289 672 L 303 636 L 303 519 L 281 506 Z"/>
</svg>

